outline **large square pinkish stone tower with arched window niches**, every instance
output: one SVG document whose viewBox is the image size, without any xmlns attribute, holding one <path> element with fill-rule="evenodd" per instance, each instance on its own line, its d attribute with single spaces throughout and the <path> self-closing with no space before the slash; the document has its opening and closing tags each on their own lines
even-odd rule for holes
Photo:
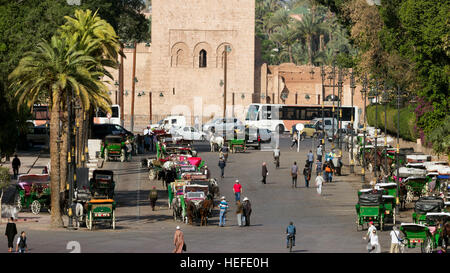
<svg viewBox="0 0 450 273">
<path fill-rule="evenodd" d="M 153 0 L 150 91 L 153 113 L 201 121 L 245 117 L 255 93 L 254 0 Z"/>
</svg>

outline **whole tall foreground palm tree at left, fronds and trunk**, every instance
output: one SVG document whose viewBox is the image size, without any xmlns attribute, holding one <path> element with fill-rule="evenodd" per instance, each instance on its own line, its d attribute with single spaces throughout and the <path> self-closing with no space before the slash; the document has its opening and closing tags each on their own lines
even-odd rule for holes
<svg viewBox="0 0 450 273">
<path fill-rule="evenodd" d="M 77 43 L 68 43 L 60 36 L 53 36 L 50 42 L 43 41 L 35 51 L 26 53 L 9 75 L 19 108 L 22 104 L 31 107 L 42 94 L 49 97 L 52 227 L 63 226 L 59 205 L 60 180 L 64 179 L 60 173 L 58 147 L 61 141 L 58 135 L 60 110 L 64 107 L 64 99 L 72 91 L 85 107 L 89 104 L 88 94 L 106 92 L 106 86 L 100 80 L 104 74 L 92 71 L 100 66 L 97 59 L 78 50 Z"/>
</svg>

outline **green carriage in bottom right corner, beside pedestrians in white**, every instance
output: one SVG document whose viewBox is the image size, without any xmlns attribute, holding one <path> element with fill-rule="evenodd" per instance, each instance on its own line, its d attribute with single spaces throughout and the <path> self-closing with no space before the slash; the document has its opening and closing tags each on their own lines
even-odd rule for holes
<svg viewBox="0 0 450 273">
<path fill-rule="evenodd" d="M 405 246 L 415 248 L 420 244 L 422 253 L 432 253 L 439 246 L 447 249 L 450 213 L 427 213 L 422 224 L 403 223 L 400 231 L 404 234 Z"/>
</svg>

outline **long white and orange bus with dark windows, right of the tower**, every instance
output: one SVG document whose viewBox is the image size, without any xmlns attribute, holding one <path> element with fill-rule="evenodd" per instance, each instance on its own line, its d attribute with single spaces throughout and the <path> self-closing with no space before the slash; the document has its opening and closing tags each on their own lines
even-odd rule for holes
<svg viewBox="0 0 450 273">
<path fill-rule="evenodd" d="M 333 117 L 332 105 L 324 106 L 325 118 Z M 335 106 L 335 115 L 339 115 Z M 353 114 L 353 128 L 358 129 L 359 108 L 357 106 L 342 106 L 342 128 L 351 122 Z M 245 125 L 264 128 L 273 132 L 291 131 L 297 123 L 309 123 L 314 118 L 322 118 L 322 105 L 286 105 L 286 104 L 250 104 L 245 118 Z M 335 116 L 337 119 L 337 116 Z"/>
</svg>

